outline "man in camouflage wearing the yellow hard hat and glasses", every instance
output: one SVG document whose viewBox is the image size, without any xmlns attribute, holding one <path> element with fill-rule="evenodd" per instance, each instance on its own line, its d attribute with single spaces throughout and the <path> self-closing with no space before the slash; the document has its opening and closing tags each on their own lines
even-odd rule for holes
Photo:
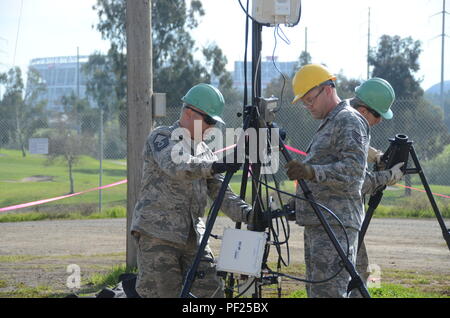
<svg viewBox="0 0 450 318">
<path fill-rule="evenodd" d="M 345 227 L 343 229 L 328 213 L 324 213 L 349 260 L 356 263 L 358 231 L 364 206 L 361 188 L 369 147 L 369 125 L 361 114 L 337 96 L 333 76 L 318 64 L 302 67 L 294 76 L 295 98 L 301 100 L 319 128 L 307 148 L 303 162 L 293 160 L 286 165 L 291 180 L 304 179 L 315 200 L 331 209 Z M 297 194 L 303 196 L 299 189 Z M 324 281 L 308 283 L 308 297 L 347 297 L 350 275 L 341 269 L 341 259 L 323 229 L 310 203 L 295 200 L 296 221 L 305 227 L 306 279 Z"/>
</svg>

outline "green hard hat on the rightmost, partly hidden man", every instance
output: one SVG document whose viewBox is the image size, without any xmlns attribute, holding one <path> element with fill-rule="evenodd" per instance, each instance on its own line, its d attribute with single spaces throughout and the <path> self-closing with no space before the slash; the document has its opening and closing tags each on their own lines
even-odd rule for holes
<svg viewBox="0 0 450 318">
<path fill-rule="evenodd" d="M 391 119 L 394 114 L 390 109 L 395 100 L 395 92 L 386 80 L 373 77 L 355 88 L 355 95 L 383 118 Z"/>
</svg>

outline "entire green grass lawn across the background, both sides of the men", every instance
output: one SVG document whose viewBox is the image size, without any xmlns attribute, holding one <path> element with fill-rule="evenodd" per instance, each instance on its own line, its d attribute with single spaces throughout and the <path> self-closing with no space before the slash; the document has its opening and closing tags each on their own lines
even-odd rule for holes
<svg viewBox="0 0 450 318">
<path fill-rule="evenodd" d="M 50 181 L 29 181 L 30 177 L 46 176 Z M 107 185 L 126 179 L 127 170 L 125 160 L 104 160 L 102 184 Z M 242 172 L 236 173 L 230 183 L 235 193 L 240 192 Z M 416 178 L 417 179 L 417 178 Z M 269 176 L 269 185 L 275 186 Z M 83 156 L 74 167 L 75 192 L 93 189 L 99 185 L 99 161 Z M 423 189 L 421 184 L 413 185 Z M 293 181 L 283 181 L 280 188 L 288 193 L 295 193 Z M 432 185 L 435 193 L 450 195 L 450 186 Z M 46 165 L 46 156 L 27 154 L 22 157 L 17 150 L 0 149 L 0 207 L 43 200 L 68 194 L 70 190 L 68 168 L 60 161 Z M 19 209 L 0 215 L 0 222 L 30 221 L 51 218 L 84 218 L 96 217 L 124 217 L 126 212 L 126 184 L 102 190 L 104 210 L 98 213 L 99 191 L 92 191 L 65 198 L 51 203 Z M 247 183 L 246 200 L 251 198 L 251 181 Z M 277 198 L 274 190 L 269 195 Z M 284 203 L 289 197 L 282 194 Z M 440 211 L 445 218 L 450 218 L 450 199 L 434 196 Z M 19 215 L 20 214 L 20 215 Z M 69 215 L 70 214 L 70 215 Z M 95 215 L 93 215 L 95 214 Z M 412 191 L 412 196 L 405 196 L 405 189 L 400 186 L 387 188 L 383 192 L 383 199 L 374 217 L 429 217 L 434 213 L 425 193 Z"/>
</svg>

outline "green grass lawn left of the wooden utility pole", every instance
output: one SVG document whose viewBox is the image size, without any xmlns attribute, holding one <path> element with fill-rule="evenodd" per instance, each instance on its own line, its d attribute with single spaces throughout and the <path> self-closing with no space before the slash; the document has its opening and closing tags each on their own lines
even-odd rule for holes
<svg viewBox="0 0 450 318">
<path fill-rule="evenodd" d="M 44 155 L 27 154 L 25 158 L 19 151 L 0 150 L 0 207 L 49 199 L 68 194 L 70 191 L 69 172 L 64 162 L 46 165 Z M 30 182 L 26 178 L 33 176 L 51 177 L 51 181 Z M 104 160 L 102 185 L 126 179 L 125 161 Z M 83 156 L 74 167 L 74 191 L 81 192 L 98 187 L 99 161 Z M 102 190 L 105 204 L 125 202 L 126 185 Z M 98 204 L 98 191 L 47 203 L 45 207 L 57 205 L 59 209 L 78 205 Z M 39 207 L 37 208 L 39 209 Z"/>
</svg>

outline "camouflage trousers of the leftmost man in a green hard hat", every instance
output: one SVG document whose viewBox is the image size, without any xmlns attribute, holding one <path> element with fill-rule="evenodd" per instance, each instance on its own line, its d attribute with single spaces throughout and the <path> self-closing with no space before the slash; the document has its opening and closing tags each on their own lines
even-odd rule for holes
<svg viewBox="0 0 450 318">
<path fill-rule="evenodd" d="M 193 232 L 193 230 L 191 230 Z M 195 234 L 186 245 L 140 235 L 137 240 L 136 291 L 144 298 L 180 297 L 184 278 L 197 253 Z M 223 283 L 216 275 L 214 256 L 207 246 L 191 293 L 198 298 L 223 298 Z"/>
</svg>

